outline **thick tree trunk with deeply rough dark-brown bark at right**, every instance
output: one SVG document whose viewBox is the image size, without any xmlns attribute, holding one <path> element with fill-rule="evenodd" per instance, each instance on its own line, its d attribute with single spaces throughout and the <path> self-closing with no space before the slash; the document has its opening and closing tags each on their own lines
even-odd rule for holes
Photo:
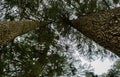
<svg viewBox="0 0 120 77">
<path fill-rule="evenodd" d="M 120 8 L 72 20 L 73 27 L 120 57 Z"/>
</svg>

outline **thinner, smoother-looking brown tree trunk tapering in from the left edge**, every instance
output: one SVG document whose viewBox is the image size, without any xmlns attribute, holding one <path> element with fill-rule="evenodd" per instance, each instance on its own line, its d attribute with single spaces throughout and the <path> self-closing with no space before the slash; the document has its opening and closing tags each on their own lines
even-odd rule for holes
<svg viewBox="0 0 120 77">
<path fill-rule="evenodd" d="M 11 21 L 0 22 L 0 46 L 14 39 L 16 36 L 26 33 L 36 27 L 46 25 L 35 21 Z"/>
</svg>

